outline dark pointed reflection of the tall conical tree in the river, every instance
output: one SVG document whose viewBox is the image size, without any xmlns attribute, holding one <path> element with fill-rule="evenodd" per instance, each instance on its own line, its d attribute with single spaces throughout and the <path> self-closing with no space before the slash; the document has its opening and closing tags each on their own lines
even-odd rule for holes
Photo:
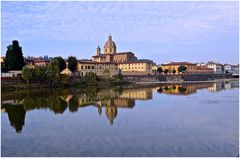
<svg viewBox="0 0 240 158">
<path fill-rule="evenodd" d="M 17 133 L 21 133 L 24 126 L 26 111 L 22 105 L 6 105 L 5 110 L 11 126 L 16 129 Z"/>
</svg>

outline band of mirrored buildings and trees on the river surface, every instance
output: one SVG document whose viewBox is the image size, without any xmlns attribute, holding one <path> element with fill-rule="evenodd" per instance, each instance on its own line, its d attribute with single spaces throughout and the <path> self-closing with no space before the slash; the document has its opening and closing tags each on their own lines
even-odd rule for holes
<svg viewBox="0 0 240 158">
<path fill-rule="evenodd" d="M 83 90 L 44 90 L 23 91 L 2 94 L 1 112 L 8 114 L 10 125 L 17 133 L 23 129 L 25 116 L 31 110 L 47 109 L 55 114 L 63 114 L 67 109 L 77 112 L 84 107 L 95 107 L 99 115 L 108 118 L 113 125 L 119 108 L 132 109 L 136 100 L 149 100 L 153 92 L 171 95 L 191 95 L 199 89 L 218 92 L 224 89 L 238 88 L 239 82 L 191 83 L 191 84 L 163 84 L 147 87 L 117 87 L 112 89 L 97 88 Z"/>
</svg>

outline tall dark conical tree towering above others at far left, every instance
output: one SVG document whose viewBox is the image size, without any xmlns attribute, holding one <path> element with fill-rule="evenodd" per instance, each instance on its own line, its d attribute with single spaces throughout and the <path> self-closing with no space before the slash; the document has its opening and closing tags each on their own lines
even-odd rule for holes
<svg viewBox="0 0 240 158">
<path fill-rule="evenodd" d="M 5 66 L 8 70 L 22 70 L 24 63 L 22 47 L 17 40 L 7 47 Z"/>
</svg>

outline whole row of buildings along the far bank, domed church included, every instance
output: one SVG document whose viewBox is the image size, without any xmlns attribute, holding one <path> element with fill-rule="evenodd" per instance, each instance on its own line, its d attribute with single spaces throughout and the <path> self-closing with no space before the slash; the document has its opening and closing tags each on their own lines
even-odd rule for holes
<svg viewBox="0 0 240 158">
<path fill-rule="evenodd" d="M 190 62 L 169 62 L 156 65 L 152 60 L 138 59 L 133 52 L 117 52 L 117 46 L 109 35 L 103 47 L 103 53 L 100 46 L 96 48 L 96 54 L 91 59 L 78 60 L 76 74 L 85 76 L 93 72 L 98 76 L 103 75 L 104 70 L 108 69 L 110 75 L 119 73 L 123 75 L 152 75 L 156 74 L 159 67 L 163 71 L 168 69 L 168 74 L 179 74 L 178 67 L 184 65 L 187 69 L 185 74 L 224 74 L 239 72 L 239 65 L 219 64 L 216 62 L 190 63 Z M 1 58 L 3 62 L 4 58 Z M 50 62 L 48 57 L 25 59 L 28 66 L 47 66 Z M 71 75 L 72 72 L 66 68 L 63 74 Z"/>
</svg>

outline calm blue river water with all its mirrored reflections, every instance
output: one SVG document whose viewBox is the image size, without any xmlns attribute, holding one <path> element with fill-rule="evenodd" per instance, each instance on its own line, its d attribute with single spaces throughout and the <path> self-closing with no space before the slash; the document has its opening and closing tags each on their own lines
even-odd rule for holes
<svg viewBox="0 0 240 158">
<path fill-rule="evenodd" d="M 237 156 L 239 83 L 2 93 L 2 156 Z"/>
</svg>

